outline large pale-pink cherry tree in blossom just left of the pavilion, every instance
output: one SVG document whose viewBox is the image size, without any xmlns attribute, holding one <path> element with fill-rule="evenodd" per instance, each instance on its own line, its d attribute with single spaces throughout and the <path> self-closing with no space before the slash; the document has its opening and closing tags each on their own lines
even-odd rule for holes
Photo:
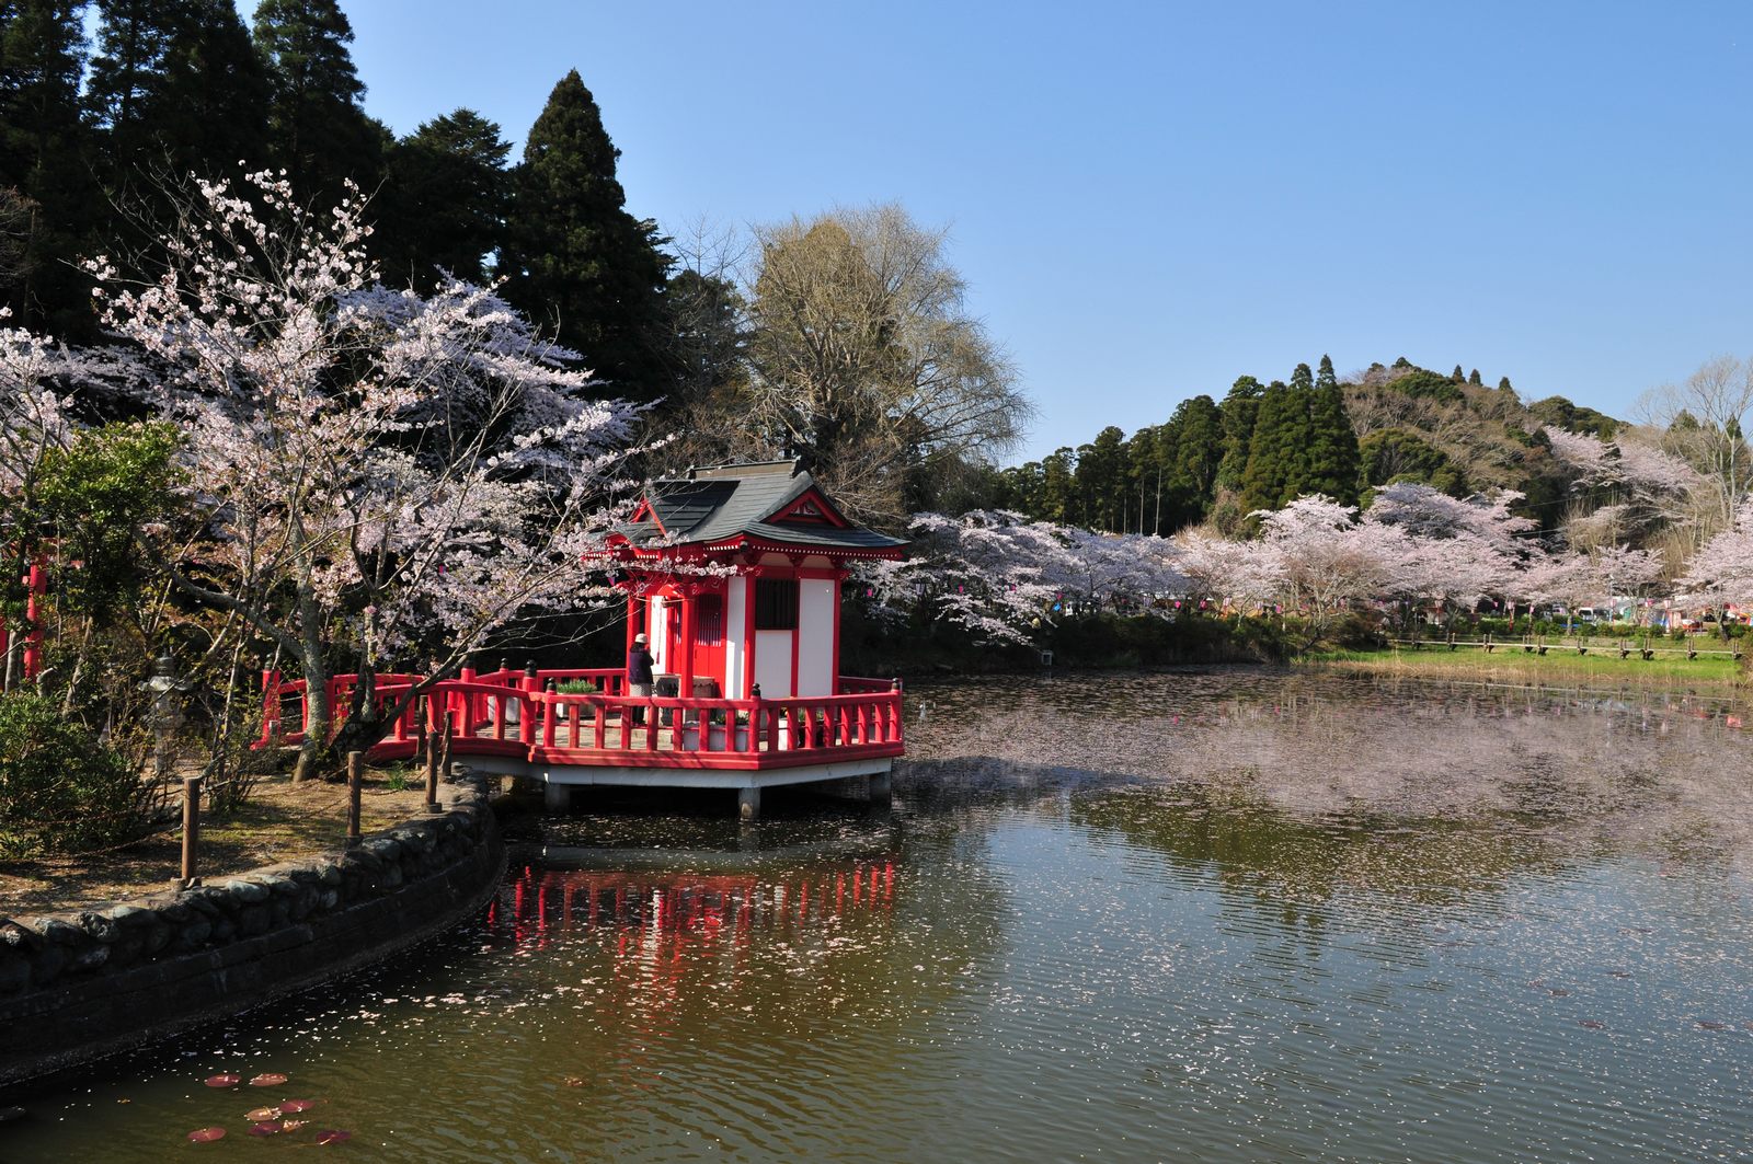
<svg viewBox="0 0 1753 1164">
<path fill-rule="evenodd" d="M 337 750 L 365 747 L 386 656 L 424 685 L 529 608 L 607 594 L 600 556 L 636 410 L 593 400 L 575 352 L 493 291 L 377 286 L 356 191 L 328 216 L 284 181 L 200 182 L 156 282 L 98 259 L 98 302 L 158 375 L 142 394 L 188 436 L 188 596 L 245 619 L 309 682 L 300 773 L 319 763 L 331 664 L 361 675 Z"/>
</svg>

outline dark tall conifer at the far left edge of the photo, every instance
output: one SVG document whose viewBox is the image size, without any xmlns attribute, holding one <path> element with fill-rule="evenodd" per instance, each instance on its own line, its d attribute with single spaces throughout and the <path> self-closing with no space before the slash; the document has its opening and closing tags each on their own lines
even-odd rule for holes
<svg viewBox="0 0 1753 1164">
<path fill-rule="evenodd" d="M 102 214 L 79 116 L 84 7 L 0 0 L 0 282 L 14 323 L 74 342 L 96 331 L 74 261 Z"/>
</svg>

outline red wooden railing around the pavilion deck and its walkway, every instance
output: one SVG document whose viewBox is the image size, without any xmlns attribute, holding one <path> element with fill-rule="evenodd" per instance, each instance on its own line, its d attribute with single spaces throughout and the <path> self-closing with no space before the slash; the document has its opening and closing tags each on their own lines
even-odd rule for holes
<svg viewBox="0 0 1753 1164">
<path fill-rule="evenodd" d="M 598 691 L 547 691 L 550 680 L 556 687 L 586 680 Z M 419 675 L 377 675 L 373 701 L 387 713 L 419 682 Z M 351 710 L 356 684 L 354 675 L 328 682 L 337 728 Z M 841 677 L 840 691 L 787 699 L 635 698 L 626 694 L 621 670 L 463 671 L 410 701 L 370 756 L 412 756 L 421 713 L 431 733 L 449 719 L 456 756 L 521 756 L 549 764 L 784 768 L 899 756 L 899 684 Z M 309 724 L 305 680 L 265 671 L 263 692 L 256 747 L 302 743 Z"/>
</svg>

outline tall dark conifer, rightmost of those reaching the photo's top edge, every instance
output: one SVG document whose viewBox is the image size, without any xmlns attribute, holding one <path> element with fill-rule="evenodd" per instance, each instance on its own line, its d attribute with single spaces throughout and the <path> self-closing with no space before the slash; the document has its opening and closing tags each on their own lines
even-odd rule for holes
<svg viewBox="0 0 1753 1164">
<path fill-rule="evenodd" d="M 387 130 L 365 116 L 352 25 L 335 0 L 261 0 L 256 49 L 268 68 L 270 153 L 300 198 L 338 202 L 352 179 L 375 191 Z"/>
</svg>

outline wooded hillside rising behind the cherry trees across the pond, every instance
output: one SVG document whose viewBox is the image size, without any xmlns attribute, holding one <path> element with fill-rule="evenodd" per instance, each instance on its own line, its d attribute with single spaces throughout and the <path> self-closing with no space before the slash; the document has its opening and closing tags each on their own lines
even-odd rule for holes
<svg viewBox="0 0 1753 1164">
<path fill-rule="evenodd" d="M 1078 447 L 994 472 L 982 503 L 1111 533 L 1169 535 L 1211 522 L 1245 528 L 1253 510 L 1322 493 L 1367 505 L 1373 491 L 1416 482 L 1462 498 L 1525 494 L 1516 510 L 1555 519 L 1574 482 L 1546 426 L 1611 438 L 1622 422 L 1564 396 L 1523 403 L 1504 377 L 1441 373 L 1401 358 L 1338 377 L 1322 356 L 1288 382 L 1239 377 L 1222 400 L 1199 394 L 1132 435 L 1108 426 Z"/>
</svg>

